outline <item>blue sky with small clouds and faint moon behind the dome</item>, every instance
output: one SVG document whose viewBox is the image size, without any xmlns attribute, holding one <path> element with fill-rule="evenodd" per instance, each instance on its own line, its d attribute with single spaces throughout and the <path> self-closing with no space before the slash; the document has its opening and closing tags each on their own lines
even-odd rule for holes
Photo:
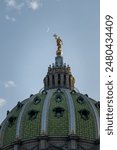
<svg viewBox="0 0 117 150">
<path fill-rule="evenodd" d="M 0 0 L 0 122 L 18 101 L 43 87 L 63 40 L 81 93 L 99 95 L 99 0 Z"/>
</svg>

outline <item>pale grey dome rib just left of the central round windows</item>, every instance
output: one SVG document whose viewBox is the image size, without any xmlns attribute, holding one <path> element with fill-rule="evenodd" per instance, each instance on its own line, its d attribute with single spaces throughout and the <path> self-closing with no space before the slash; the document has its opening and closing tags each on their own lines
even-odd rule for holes
<svg viewBox="0 0 117 150">
<path fill-rule="evenodd" d="M 41 134 L 47 134 L 47 117 L 48 117 L 48 110 L 50 99 L 53 94 L 53 90 L 48 90 L 47 96 L 44 101 L 43 109 L 42 109 L 42 118 L 41 118 Z"/>
</svg>

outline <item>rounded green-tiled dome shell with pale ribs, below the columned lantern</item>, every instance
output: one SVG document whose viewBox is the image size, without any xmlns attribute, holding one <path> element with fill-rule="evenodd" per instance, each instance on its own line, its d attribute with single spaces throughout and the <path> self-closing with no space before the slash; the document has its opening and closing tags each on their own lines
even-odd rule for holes
<svg viewBox="0 0 117 150">
<path fill-rule="evenodd" d="M 67 97 L 67 92 L 70 97 Z M 45 101 L 47 101 L 47 118 L 44 126 L 41 127 L 42 111 Z M 72 98 L 75 114 L 75 126 L 70 130 L 70 104 L 68 99 Z M 18 102 L 1 126 L 2 141 L 1 144 L 6 146 L 18 139 L 30 139 L 39 135 L 47 134 L 48 136 L 68 136 L 75 134 L 83 139 L 97 139 L 99 136 L 99 108 L 96 101 L 79 92 L 61 89 L 51 89 L 47 93 L 38 93 L 30 98 Z M 20 106 L 21 105 L 21 106 Z M 58 108 L 58 112 L 57 112 Z M 63 110 L 63 111 L 62 111 Z M 82 112 L 82 113 L 81 113 Z M 14 118 L 14 120 L 13 120 Z M 72 122 L 73 123 L 73 122 Z"/>
</svg>

